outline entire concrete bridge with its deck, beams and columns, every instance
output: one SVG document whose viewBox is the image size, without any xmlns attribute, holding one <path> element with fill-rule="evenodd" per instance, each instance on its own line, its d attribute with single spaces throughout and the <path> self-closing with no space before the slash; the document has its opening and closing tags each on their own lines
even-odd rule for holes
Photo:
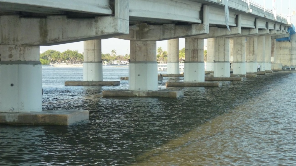
<svg viewBox="0 0 296 166">
<path fill-rule="evenodd" d="M 241 0 L 0 0 L 0 22 L 0 123 L 56 125 L 86 120 L 88 111 L 42 110 L 40 45 L 85 41 L 83 81 L 102 81 L 101 39 L 130 40 L 129 88 L 122 93 L 178 97 L 183 91 L 157 89 L 157 40 L 168 40 L 168 66 L 176 74 L 178 38 L 186 38 L 184 82 L 205 82 L 203 39 L 208 39 L 207 66 L 213 66 L 214 76 L 230 77 L 231 40 L 237 74 L 258 63 L 270 70 L 271 43 L 287 36 L 290 26 L 287 19 Z M 72 121 L 55 123 L 57 115 Z"/>
</svg>

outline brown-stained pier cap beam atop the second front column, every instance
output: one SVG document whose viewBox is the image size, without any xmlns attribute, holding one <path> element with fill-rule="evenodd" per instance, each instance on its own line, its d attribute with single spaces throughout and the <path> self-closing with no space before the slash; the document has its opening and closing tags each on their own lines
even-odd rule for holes
<svg viewBox="0 0 296 166">
<path fill-rule="evenodd" d="M 148 25 L 137 24 L 130 26 L 128 35 L 117 36 L 115 38 L 125 40 L 169 40 L 174 38 L 185 38 L 198 34 L 209 33 L 209 26 L 203 24 L 192 25 Z"/>
</svg>

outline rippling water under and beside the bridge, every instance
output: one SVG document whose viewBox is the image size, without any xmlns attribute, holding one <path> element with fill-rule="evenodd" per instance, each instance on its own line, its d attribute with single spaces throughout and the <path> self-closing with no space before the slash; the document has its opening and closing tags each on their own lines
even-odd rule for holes
<svg viewBox="0 0 296 166">
<path fill-rule="evenodd" d="M 165 74 L 165 71 L 159 71 Z M 104 67 L 104 80 L 128 76 Z M 295 165 L 296 73 L 165 87 L 184 97 L 102 98 L 115 87 L 65 87 L 82 68 L 43 67 L 43 108 L 89 110 L 70 126 L 0 125 L 0 165 Z"/>
</svg>

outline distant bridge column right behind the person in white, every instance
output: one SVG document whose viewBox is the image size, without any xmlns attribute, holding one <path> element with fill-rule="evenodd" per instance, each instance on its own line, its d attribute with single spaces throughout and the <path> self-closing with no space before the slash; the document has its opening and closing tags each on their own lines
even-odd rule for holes
<svg viewBox="0 0 296 166">
<path fill-rule="evenodd" d="M 257 38 L 257 50 L 257 66 L 260 64 L 260 71 L 265 71 L 265 36 Z"/>
</svg>

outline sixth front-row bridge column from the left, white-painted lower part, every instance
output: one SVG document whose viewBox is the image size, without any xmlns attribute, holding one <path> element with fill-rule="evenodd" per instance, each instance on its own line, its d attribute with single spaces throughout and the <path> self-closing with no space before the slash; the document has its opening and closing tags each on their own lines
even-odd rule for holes
<svg viewBox="0 0 296 166">
<path fill-rule="evenodd" d="M 257 71 L 257 37 L 247 37 L 246 44 L 246 72 Z"/>
</svg>

